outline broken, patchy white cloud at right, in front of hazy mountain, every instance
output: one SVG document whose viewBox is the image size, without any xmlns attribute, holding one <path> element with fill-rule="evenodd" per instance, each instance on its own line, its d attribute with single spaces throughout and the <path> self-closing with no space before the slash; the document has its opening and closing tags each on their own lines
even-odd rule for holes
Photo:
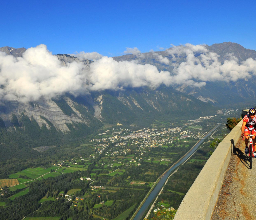
<svg viewBox="0 0 256 220">
<path fill-rule="evenodd" d="M 185 59 L 180 64 L 173 64 L 173 82 L 175 84 L 204 85 L 210 81 L 236 81 L 256 75 L 256 61 L 248 60 L 238 63 L 237 58 L 227 54 L 223 64 L 219 55 L 209 52 L 204 45 L 186 44 L 173 46 L 167 52 L 173 60 Z M 199 84 L 198 84 L 199 83 Z"/>
</svg>

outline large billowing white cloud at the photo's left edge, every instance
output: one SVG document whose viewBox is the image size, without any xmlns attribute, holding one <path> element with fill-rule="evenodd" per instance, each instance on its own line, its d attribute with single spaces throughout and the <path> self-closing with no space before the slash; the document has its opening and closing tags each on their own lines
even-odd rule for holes
<svg viewBox="0 0 256 220">
<path fill-rule="evenodd" d="M 1 52 L 0 85 L 4 89 L 0 89 L 0 100 L 18 98 L 20 102 L 27 102 L 65 92 L 86 92 L 83 69 L 82 63 L 62 66 L 43 44 L 27 49 L 22 58 Z"/>
</svg>

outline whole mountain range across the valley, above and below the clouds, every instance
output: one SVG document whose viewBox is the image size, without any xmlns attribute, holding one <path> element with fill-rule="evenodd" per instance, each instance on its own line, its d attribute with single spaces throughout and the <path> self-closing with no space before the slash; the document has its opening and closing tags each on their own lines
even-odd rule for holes
<svg viewBox="0 0 256 220">
<path fill-rule="evenodd" d="M 248 58 L 255 60 L 256 51 L 245 49 L 239 44 L 224 42 L 222 44 L 204 45 L 209 51 L 218 54 L 223 64 L 227 56 L 236 57 L 238 64 Z M 169 48 L 170 50 L 171 48 Z M 179 48 L 178 48 L 179 49 Z M 25 48 L 1 47 L 1 52 L 15 57 L 22 57 Z M 67 54 L 55 55 L 63 66 L 72 62 L 82 62 L 89 70 L 93 61 L 78 59 Z M 170 64 L 186 62 L 186 54 L 173 55 L 166 51 L 128 54 L 113 57 L 114 60 L 133 61 L 137 64 L 151 64 L 159 71 L 174 70 L 173 65 L 159 61 L 167 58 Z M 220 107 L 235 105 L 245 100 L 255 101 L 255 80 L 238 79 L 236 81 L 212 81 L 206 86 L 178 84 L 127 87 L 122 90 L 91 91 L 85 95 L 65 93 L 51 99 L 41 97 L 37 101 L 22 103 L 18 100 L 2 101 L 0 117 L 2 127 L 9 132 L 17 128 L 26 130 L 26 123 L 35 123 L 42 129 L 56 134 L 76 134 L 86 136 L 97 131 L 103 125 L 150 126 L 156 121 L 179 121 L 217 114 Z M 29 120 L 28 120 L 29 119 Z M 30 122 L 29 122 L 30 121 Z M 1 124 L 0 123 L 0 124 Z M 32 129 L 33 130 L 33 129 Z M 29 136 L 29 135 L 28 135 Z M 51 143 L 49 143 L 51 144 Z"/>
</svg>

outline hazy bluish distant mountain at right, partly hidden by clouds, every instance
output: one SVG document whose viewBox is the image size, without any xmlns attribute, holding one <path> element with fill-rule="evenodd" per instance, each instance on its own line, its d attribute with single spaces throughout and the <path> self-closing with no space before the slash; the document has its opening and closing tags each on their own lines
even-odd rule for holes
<svg viewBox="0 0 256 220">
<path fill-rule="evenodd" d="M 224 42 L 220 44 L 213 44 L 211 46 L 205 45 L 205 48 L 209 52 L 216 53 L 219 56 L 219 60 L 221 64 L 227 59 L 229 59 L 229 55 L 232 55 L 237 59 L 237 63 L 241 64 L 243 61 L 248 58 L 252 58 L 255 60 L 256 51 L 246 49 L 240 44 L 232 43 L 232 42 Z M 171 50 L 172 48 L 169 48 Z M 165 51 L 155 52 L 158 55 L 168 58 L 170 63 L 175 62 L 181 64 L 182 62 L 186 62 L 186 55 L 181 55 L 173 61 L 173 56 L 170 55 L 168 49 Z M 137 63 L 140 64 L 151 64 L 156 66 L 159 70 L 166 70 L 172 73 L 173 66 L 165 63 L 161 63 L 155 59 L 154 53 L 143 53 L 144 56 L 137 56 L 133 54 L 128 54 L 119 57 L 113 57 L 117 61 L 131 61 L 136 60 Z M 256 88 L 255 88 L 255 79 L 239 79 L 235 82 L 227 82 L 227 81 L 215 81 L 215 82 L 207 82 L 206 86 L 195 87 L 187 85 L 186 83 L 181 85 L 175 85 L 174 89 L 181 91 L 185 94 L 192 95 L 197 99 L 209 102 L 213 105 L 217 106 L 226 106 L 227 104 L 234 104 L 239 102 L 244 102 L 245 100 L 255 101 L 256 96 Z"/>
</svg>

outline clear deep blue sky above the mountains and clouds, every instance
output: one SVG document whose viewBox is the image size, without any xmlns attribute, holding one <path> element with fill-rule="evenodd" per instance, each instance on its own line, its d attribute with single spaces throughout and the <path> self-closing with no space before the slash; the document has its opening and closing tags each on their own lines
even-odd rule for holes
<svg viewBox="0 0 256 220">
<path fill-rule="evenodd" d="M 5 1 L 0 47 L 123 55 L 170 44 L 236 42 L 256 50 L 254 1 Z"/>
</svg>

